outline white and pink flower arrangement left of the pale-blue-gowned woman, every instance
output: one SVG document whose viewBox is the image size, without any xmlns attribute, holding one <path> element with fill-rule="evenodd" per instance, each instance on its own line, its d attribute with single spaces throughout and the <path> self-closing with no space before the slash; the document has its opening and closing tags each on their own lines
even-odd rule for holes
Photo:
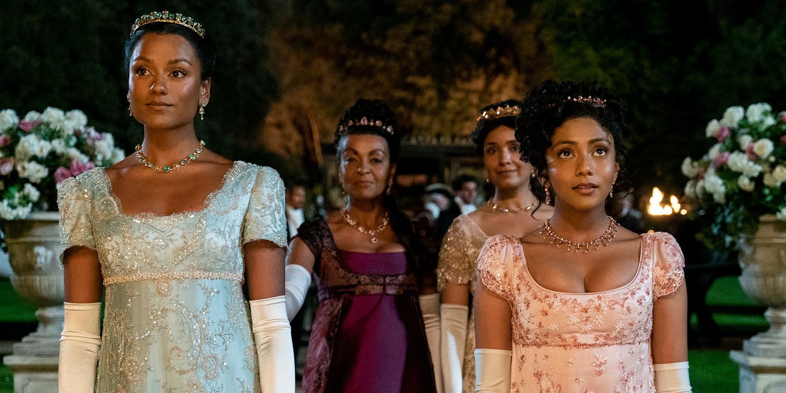
<svg viewBox="0 0 786 393">
<path fill-rule="evenodd" d="M 0 111 L 0 219 L 57 208 L 57 187 L 66 178 L 123 160 L 112 134 L 87 126 L 82 111 L 46 108 L 20 119 Z"/>
</svg>

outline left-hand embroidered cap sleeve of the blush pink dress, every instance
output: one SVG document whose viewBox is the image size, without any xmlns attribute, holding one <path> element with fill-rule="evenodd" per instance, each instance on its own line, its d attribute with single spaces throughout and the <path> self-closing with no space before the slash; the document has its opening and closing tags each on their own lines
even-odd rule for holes
<svg viewBox="0 0 786 393">
<path fill-rule="evenodd" d="M 516 237 L 489 237 L 478 255 L 479 280 L 509 303 L 514 303 L 513 280 L 516 276 L 516 260 L 520 258 L 519 240 Z"/>
</svg>

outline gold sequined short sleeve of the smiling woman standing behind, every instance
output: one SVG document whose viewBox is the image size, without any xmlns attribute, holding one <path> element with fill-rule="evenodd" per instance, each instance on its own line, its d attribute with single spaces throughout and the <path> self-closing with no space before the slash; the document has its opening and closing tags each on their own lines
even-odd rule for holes
<svg viewBox="0 0 786 393">
<path fill-rule="evenodd" d="M 446 282 L 467 284 L 472 279 L 472 266 L 468 255 L 467 233 L 461 224 L 461 216 L 448 228 L 439 250 L 437 264 L 437 287 L 441 291 Z"/>
</svg>

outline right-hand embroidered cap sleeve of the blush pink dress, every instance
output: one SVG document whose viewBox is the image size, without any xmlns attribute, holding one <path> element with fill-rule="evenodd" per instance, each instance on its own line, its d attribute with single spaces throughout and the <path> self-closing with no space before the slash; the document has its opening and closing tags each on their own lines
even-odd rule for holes
<svg viewBox="0 0 786 393">
<path fill-rule="evenodd" d="M 685 279 L 685 256 L 677 241 L 669 233 L 656 233 L 652 245 L 653 300 L 677 290 Z"/>
</svg>

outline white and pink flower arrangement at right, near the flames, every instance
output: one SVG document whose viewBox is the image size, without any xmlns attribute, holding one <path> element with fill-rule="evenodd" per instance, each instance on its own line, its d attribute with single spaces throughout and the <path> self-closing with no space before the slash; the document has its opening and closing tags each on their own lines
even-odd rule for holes
<svg viewBox="0 0 786 393">
<path fill-rule="evenodd" d="M 754 233 L 761 215 L 786 221 L 786 112 L 769 104 L 727 108 L 705 129 L 714 144 L 700 160 L 685 158 L 685 195 L 711 213 L 711 239 L 733 247 Z"/>
</svg>

